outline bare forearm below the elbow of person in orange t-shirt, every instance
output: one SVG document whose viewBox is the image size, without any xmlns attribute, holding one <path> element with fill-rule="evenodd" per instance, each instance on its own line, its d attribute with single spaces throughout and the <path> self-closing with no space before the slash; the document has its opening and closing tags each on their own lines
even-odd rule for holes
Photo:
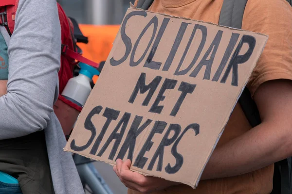
<svg viewBox="0 0 292 194">
<path fill-rule="evenodd" d="M 216 148 L 206 165 L 202 179 L 237 176 L 290 157 L 290 130 L 280 122 L 263 122 L 242 136 Z"/>
</svg>

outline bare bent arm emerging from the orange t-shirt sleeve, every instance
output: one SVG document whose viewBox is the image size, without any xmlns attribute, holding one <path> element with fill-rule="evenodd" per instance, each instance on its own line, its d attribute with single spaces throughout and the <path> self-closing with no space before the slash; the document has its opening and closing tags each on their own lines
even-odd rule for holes
<svg viewBox="0 0 292 194">
<path fill-rule="evenodd" d="M 292 156 L 292 81 L 263 83 L 254 99 L 262 123 L 217 147 L 202 179 L 245 174 Z"/>
</svg>

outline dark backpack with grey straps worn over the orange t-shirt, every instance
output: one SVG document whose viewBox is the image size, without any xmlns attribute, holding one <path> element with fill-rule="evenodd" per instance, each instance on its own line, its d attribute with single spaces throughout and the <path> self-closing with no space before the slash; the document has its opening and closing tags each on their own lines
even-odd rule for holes
<svg viewBox="0 0 292 194">
<path fill-rule="evenodd" d="M 137 7 L 147 10 L 154 0 L 139 0 Z M 287 0 L 292 5 L 292 0 Z M 247 0 L 224 0 L 219 17 L 219 25 L 241 29 Z M 238 100 L 252 127 L 261 123 L 255 101 L 244 88 Z M 271 194 L 292 194 L 292 157 L 274 164 L 273 191 Z"/>
</svg>

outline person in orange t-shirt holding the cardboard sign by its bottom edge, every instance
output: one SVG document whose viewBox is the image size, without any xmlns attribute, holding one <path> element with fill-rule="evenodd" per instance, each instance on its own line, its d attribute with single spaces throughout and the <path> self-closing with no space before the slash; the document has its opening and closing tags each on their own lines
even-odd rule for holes
<svg viewBox="0 0 292 194">
<path fill-rule="evenodd" d="M 138 0 L 135 1 L 137 6 Z M 218 24 L 223 0 L 154 0 L 148 10 Z M 292 7 L 286 0 L 248 0 L 242 29 L 269 35 L 247 84 L 262 123 L 252 128 L 237 103 L 198 188 L 129 170 L 114 171 L 128 194 L 270 194 L 274 163 L 292 156 Z"/>
</svg>

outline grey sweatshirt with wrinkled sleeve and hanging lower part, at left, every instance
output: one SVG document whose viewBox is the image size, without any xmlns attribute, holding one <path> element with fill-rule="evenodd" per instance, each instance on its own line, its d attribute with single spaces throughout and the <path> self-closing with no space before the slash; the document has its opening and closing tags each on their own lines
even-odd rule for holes
<svg viewBox="0 0 292 194">
<path fill-rule="evenodd" d="M 58 97 L 61 33 L 56 0 L 19 0 L 8 46 L 7 95 L 0 97 L 0 140 L 45 131 L 55 194 L 84 194 L 53 112 Z"/>
</svg>

